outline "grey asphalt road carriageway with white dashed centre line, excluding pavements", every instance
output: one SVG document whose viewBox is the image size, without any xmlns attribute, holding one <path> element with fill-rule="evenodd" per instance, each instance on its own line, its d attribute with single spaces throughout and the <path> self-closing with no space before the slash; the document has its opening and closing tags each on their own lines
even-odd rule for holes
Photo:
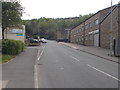
<svg viewBox="0 0 120 90">
<path fill-rule="evenodd" d="M 38 60 L 39 88 L 117 88 L 118 64 L 54 41 Z M 39 59 L 39 58 L 38 58 Z"/>
</svg>

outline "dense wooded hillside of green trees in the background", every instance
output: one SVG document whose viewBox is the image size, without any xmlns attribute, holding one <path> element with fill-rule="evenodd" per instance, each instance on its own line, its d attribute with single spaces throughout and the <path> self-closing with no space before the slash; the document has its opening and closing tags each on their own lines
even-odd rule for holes
<svg viewBox="0 0 120 90">
<path fill-rule="evenodd" d="M 33 20 L 26 20 L 26 33 L 33 37 L 33 35 L 39 35 L 41 38 L 56 39 L 57 31 L 65 34 L 66 28 L 73 28 L 80 24 L 92 14 L 80 15 L 79 17 L 72 18 L 40 18 Z"/>
</svg>

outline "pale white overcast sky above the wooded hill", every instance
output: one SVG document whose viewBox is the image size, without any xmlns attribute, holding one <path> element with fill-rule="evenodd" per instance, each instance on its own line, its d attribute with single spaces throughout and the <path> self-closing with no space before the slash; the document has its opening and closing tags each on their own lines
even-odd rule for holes
<svg viewBox="0 0 120 90">
<path fill-rule="evenodd" d="M 23 19 L 68 18 L 110 7 L 111 0 L 20 0 L 25 8 Z M 112 0 L 113 5 L 120 0 Z"/>
</svg>

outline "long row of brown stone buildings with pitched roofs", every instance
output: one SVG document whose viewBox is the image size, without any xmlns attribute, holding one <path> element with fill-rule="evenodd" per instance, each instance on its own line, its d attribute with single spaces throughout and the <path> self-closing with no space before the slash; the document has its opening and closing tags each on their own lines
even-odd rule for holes
<svg viewBox="0 0 120 90">
<path fill-rule="evenodd" d="M 114 48 L 120 29 L 119 12 L 120 4 L 98 11 L 71 29 L 71 42 L 109 49 L 110 37 L 112 36 L 112 46 Z"/>
</svg>

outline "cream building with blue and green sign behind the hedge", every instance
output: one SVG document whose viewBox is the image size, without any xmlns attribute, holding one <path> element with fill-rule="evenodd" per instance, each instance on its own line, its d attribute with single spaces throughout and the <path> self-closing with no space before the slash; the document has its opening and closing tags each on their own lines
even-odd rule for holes
<svg viewBox="0 0 120 90">
<path fill-rule="evenodd" d="M 7 28 L 4 32 L 5 39 L 21 40 L 25 41 L 25 26 L 22 25 L 23 29 L 19 28 Z"/>
</svg>

